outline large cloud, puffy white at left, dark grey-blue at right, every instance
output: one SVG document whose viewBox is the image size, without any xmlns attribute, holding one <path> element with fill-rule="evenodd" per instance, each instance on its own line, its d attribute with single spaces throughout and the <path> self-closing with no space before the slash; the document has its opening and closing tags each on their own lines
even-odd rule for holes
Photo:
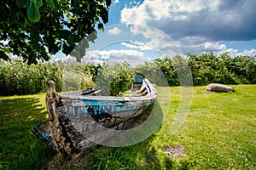
<svg viewBox="0 0 256 170">
<path fill-rule="evenodd" d="M 202 36 L 211 40 L 255 39 L 254 0 L 234 1 L 145 0 L 140 6 L 124 8 L 121 21 L 145 24 L 172 37 Z"/>
</svg>

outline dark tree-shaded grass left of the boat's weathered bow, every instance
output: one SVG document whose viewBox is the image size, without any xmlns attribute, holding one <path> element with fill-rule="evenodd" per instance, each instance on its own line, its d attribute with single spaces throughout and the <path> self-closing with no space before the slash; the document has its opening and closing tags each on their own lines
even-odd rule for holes
<svg viewBox="0 0 256 170">
<path fill-rule="evenodd" d="M 45 116 L 39 99 L 0 100 L 0 169 L 39 169 L 44 165 L 50 151 L 30 130 Z"/>
</svg>

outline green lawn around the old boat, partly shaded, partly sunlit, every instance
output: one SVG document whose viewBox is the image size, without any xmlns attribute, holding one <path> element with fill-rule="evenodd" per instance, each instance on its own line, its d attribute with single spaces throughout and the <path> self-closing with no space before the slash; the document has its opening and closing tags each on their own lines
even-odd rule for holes
<svg viewBox="0 0 256 170">
<path fill-rule="evenodd" d="M 189 115 L 174 134 L 180 88 L 157 88 L 160 129 L 139 144 L 92 148 L 84 167 L 55 156 L 30 132 L 47 117 L 44 94 L 0 97 L 0 169 L 256 169 L 256 85 L 232 87 L 224 94 L 193 88 Z"/>
</svg>

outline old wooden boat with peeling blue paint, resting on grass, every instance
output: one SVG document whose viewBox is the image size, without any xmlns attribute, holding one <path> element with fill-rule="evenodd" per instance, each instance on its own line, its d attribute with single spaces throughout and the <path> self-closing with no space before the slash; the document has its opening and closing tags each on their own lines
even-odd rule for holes
<svg viewBox="0 0 256 170">
<path fill-rule="evenodd" d="M 33 127 L 32 132 L 71 161 L 77 160 L 83 150 L 119 133 L 118 130 L 135 126 L 157 97 L 154 85 L 143 77 L 135 77 L 131 93 L 125 97 L 101 96 L 93 88 L 57 94 L 55 82 L 46 83 L 49 119 Z"/>
</svg>

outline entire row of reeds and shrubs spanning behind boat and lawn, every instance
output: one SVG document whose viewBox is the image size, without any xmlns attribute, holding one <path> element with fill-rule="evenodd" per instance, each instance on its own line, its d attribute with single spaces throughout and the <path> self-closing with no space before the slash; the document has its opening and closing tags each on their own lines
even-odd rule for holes
<svg viewBox="0 0 256 170">
<path fill-rule="evenodd" d="M 56 82 L 57 91 L 70 91 L 96 86 L 103 94 L 119 95 L 133 77 L 143 75 L 159 86 L 180 84 L 207 85 L 255 84 L 256 58 L 252 56 L 220 56 L 212 52 L 195 55 L 154 59 L 153 62 L 131 68 L 125 62 L 113 67 L 108 65 L 83 65 L 73 62 L 40 63 L 26 65 L 20 61 L 0 60 L 0 95 L 36 94 L 46 90 L 45 81 Z"/>
</svg>

